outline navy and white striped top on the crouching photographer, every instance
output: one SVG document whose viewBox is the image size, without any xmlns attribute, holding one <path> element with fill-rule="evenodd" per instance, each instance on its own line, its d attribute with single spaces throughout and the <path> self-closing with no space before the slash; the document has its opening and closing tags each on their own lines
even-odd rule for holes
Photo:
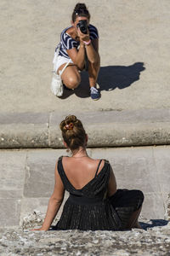
<svg viewBox="0 0 170 256">
<path fill-rule="evenodd" d="M 77 42 L 75 39 L 71 38 L 69 34 L 66 33 L 67 29 L 69 29 L 71 26 L 66 27 L 63 32 L 61 32 L 60 35 L 60 42 L 57 45 L 55 51 L 59 49 L 59 55 L 64 56 L 67 59 L 70 59 L 69 55 L 67 54 L 67 49 L 72 49 L 72 48 L 78 48 L 80 45 L 80 42 Z M 94 40 L 96 38 L 99 38 L 98 30 L 95 26 L 89 25 L 88 26 L 89 34 L 90 34 L 90 39 Z"/>
</svg>

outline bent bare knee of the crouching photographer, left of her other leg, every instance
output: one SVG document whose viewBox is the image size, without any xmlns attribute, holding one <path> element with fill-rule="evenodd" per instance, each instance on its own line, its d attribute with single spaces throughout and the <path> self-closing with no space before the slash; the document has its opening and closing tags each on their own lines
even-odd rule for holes
<svg viewBox="0 0 170 256">
<path fill-rule="evenodd" d="M 65 64 L 59 67 L 57 73 L 59 73 L 59 71 L 61 71 L 65 67 Z M 68 67 L 66 67 L 65 71 L 61 75 L 61 79 L 63 80 L 65 86 L 69 89 L 73 90 L 77 88 L 77 86 L 81 83 L 81 76 L 78 72 L 77 66 L 74 64 L 70 64 Z"/>
</svg>

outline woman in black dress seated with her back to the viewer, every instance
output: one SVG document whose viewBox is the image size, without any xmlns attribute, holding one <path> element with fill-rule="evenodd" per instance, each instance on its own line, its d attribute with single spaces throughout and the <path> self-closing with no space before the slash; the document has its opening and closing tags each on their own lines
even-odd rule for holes
<svg viewBox="0 0 170 256">
<path fill-rule="evenodd" d="M 61 156 L 55 166 L 54 193 L 42 227 L 48 230 L 59 211 L 65 190 L 70 193 L 56 230 L 128 230 L 138 223 L 144 195 L 139 190 L 116 189 L 108 160 L 94 160 L 86 151 L 88 136 L 82 122 L 70 115 L 60 123 L 71 157 Z"/>
</svg>

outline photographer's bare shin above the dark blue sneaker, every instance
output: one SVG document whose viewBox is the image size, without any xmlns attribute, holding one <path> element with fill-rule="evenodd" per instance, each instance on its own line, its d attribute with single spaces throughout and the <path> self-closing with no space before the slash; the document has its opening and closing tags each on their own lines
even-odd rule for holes
<svg viewBox="0 0 170 256">
<path fill-rule="evenodd" d="M 96 81 L 98 79 L 98 74 L 99 74 L 99 67 L 100 67 L 100 58 L 95 63 L 88 61 L 88 76 L 89 76 L 90 87 L 95 87 L 96 85 Z"/>
</svg>

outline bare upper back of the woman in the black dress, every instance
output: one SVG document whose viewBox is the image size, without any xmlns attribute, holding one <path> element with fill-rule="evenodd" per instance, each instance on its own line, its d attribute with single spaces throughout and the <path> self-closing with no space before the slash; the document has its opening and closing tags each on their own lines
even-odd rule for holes
<svg viewBox="0 0 170 256">
<path fill-rule="evenodd" d="M 89 183 L 95 176 L 97 168 L 99 170 L 97 174 L 102 170 L 105 165 L 105 160 L 93 160 L 89 157 L 73 158 L 63 157 L 62 164 L 65 170 L 65 174 L 75 189 L 82 189 L 87 183 Z"/>
</svg>

